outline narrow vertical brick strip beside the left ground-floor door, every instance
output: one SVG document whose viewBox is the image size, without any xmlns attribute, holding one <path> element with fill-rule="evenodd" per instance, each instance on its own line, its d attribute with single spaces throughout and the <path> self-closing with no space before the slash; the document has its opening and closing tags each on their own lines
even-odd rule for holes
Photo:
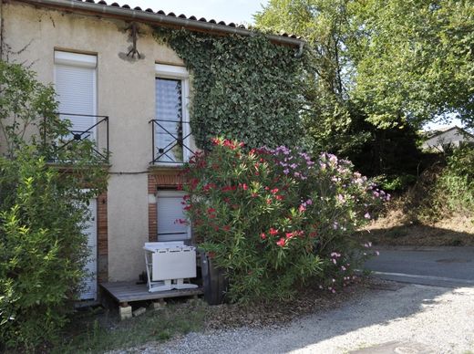
<svg viewBox="0 0 474 354">
<path fill-rule="evenodd" d="M 98 282 L 108 281 L 107 192 L 98 196 Z"/>
</svg>

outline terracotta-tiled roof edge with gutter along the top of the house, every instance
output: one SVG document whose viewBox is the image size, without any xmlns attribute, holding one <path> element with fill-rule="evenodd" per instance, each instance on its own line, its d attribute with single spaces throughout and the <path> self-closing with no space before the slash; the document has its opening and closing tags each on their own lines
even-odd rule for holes
<svg viewBox="0 0 474 354">
<path fill-rule="evenodd" d="M 165 14 L 160 10 L 154 12 L 152 9 L 142 9 L 139 6 L 131 8 L 129 5 L 118 5 L 118 3 L 108 4 L 104 0 L 17 0 L 20 2 L 57 8 L 67 9 L 77 13 L 94 13 L 100 16 L 119 17 L 125 20 L 135 20 L 145 23 L 153 23 L 161 26 L 184 27 L 195 31 L 207 31 L 216 34 L 235 34 L 242 36 L 251 36 L 252 30 L 243 25 L 236 25 L 234 23 L 226 24 L 224 21 L 216 21 L 214 19 L 207 20 L 204 17 L 197 18 L 196 16 L 176 16 L 170 12 Z M 266 35 L 270 40 L 278 44 L 286 44 L 290 46 L 302 46 L 304 41 L 294 35 L 283 33 L 280 35 Z"/>
</svg>

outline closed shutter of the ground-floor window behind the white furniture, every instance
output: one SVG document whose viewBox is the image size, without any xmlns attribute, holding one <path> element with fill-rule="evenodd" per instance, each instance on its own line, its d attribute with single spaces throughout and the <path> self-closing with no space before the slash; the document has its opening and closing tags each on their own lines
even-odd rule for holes
<svg viewBox="0 0 474 354">
<path fill-rule="evenodd" d="M 157 193 L 158 241 L 184 241 L 191 238 L 188 224 L 180 223 L 180 220 L 186 220 L 181 204 L 184 195 L 180 191 Z"/>
</svg>

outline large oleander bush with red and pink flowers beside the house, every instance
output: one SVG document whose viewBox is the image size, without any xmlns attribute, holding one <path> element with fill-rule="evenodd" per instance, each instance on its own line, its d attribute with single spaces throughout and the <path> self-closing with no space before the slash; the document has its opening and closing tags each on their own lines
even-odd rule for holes
<svg viewBox="0 0 474 354">
<path fill-rule="evenodd" d="M 388 196 L 335 155 L 213 144 L 185 170 L 183 203 L 196 241 L 227 272 L 228 296 L 290 298 L 314 277 L 333 292 L 347 285 L 371 253 L 351 234 Z"/>
</svg>

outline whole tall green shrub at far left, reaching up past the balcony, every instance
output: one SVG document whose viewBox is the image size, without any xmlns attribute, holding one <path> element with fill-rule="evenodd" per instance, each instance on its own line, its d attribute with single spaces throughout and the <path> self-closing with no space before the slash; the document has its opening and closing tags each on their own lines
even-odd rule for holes
<svg viewBox="0 0 474 354">
<path fill-rule="evenodd" d="M 0 62 L 0 93 L 0 351 L 32 351 L 57 338 L 73 309 L 88 255 L 86 205 L 107 171 L 91 141 L 54 147 L 69 123 L 33 72 Z M 52 167 L 53 158 L 67 165 Z"/>
</svg>

